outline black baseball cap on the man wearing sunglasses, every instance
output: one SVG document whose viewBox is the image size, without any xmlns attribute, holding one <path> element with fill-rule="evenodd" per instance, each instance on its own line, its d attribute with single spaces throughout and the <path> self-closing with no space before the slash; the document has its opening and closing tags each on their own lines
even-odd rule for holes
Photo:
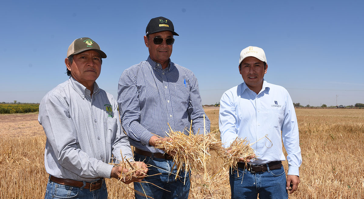
<svg viewBox="0 0 364 199">
<path fill-rule="evenodd" d="M 176 32 L 174 32 L 172 21 L 165 17 L 156 17 L 151 19 L 145 29 L 145 35 L 148 36 L 148 34 L 162 31 L 170 31 L 173 35 L 179 36 Z"/>
</svg>

